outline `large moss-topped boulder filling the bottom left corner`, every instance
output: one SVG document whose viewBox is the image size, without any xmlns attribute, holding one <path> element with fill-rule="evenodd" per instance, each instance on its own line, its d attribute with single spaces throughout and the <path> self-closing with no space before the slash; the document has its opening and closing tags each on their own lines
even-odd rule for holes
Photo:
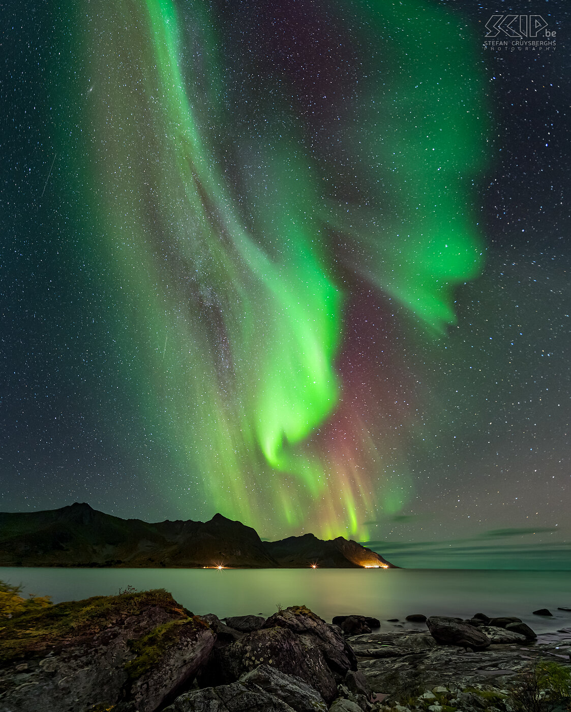
<svg viewBox="0 0 571 712">
<path fill-rule="evenodd" d="M 214 633 L 164 591 L 41 609 L 0 629 L 2 712 L 135 703 L 154 712 L 192 680 Z"/>
</svg>

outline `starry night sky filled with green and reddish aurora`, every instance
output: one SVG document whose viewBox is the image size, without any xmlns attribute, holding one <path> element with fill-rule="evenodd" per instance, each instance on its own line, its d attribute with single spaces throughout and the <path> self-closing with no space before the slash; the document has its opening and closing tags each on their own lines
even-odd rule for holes
<svg viewBox="0 0 571 712">
<path fill-rule="evenodd" d="M 570 19 L 5 7 L 0 509 L 570 568 Z"/>
</svg>

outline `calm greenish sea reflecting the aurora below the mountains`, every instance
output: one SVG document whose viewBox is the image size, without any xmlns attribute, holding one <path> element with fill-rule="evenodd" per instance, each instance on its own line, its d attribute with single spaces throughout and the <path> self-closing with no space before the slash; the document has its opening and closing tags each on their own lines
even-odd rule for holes
<svg viewBox="0 0 571 712">
<path fill-rule="evenodd" d="M 571 571 L 431 569 L 57 569 L 0 567 L 0 580 L 53 602 L 164 588 L 195 614 L 271 615 L 305 604 L 325 620 L 359 613 L 386 621 L 411 613 L 515 615 L 536 632 L 571 625 Z M 533 615 L 548 608 L 552 618 Z M 387 624 L 388 626 L 389 624 Z M 407 627 L 411 624 L 406 624 Z"/>
</svg>

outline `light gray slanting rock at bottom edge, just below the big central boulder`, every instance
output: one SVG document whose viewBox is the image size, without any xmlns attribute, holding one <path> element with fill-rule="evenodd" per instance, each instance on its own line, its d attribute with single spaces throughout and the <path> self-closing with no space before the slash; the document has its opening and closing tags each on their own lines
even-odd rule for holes
<svg viewBox="0 0 571 712">
<path fill-rule="evenodd" d="M 365 679 L 363 678 L 363 680 Z M 257 685 L 293 707 L 296 712 L 325 712 L 327 710 L 325 700 L 312 686 L 300 677 L 286 675 L 269 665 L 258 665 L 251 672 L 241 676 L 240 682 L 248 687 L 253 684 Z M 366 681 L 365 684 L 367 684 Z"/>
</svg>

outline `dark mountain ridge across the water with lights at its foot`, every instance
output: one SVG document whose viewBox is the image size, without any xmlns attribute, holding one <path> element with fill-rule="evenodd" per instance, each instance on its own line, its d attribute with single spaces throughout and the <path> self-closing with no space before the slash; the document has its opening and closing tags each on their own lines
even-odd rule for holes
<svg viewBox="0 0 571 712">
<path fill-rule="evenodd" d="M 262 542 L 251 527 L 214 515 L 208 522 L 147 523 L 75 503 L 43 512 L 0 512 L 0 566 L 242 568 L 389 565 L 341 537 L 313 534 Z"/>
</svg>

